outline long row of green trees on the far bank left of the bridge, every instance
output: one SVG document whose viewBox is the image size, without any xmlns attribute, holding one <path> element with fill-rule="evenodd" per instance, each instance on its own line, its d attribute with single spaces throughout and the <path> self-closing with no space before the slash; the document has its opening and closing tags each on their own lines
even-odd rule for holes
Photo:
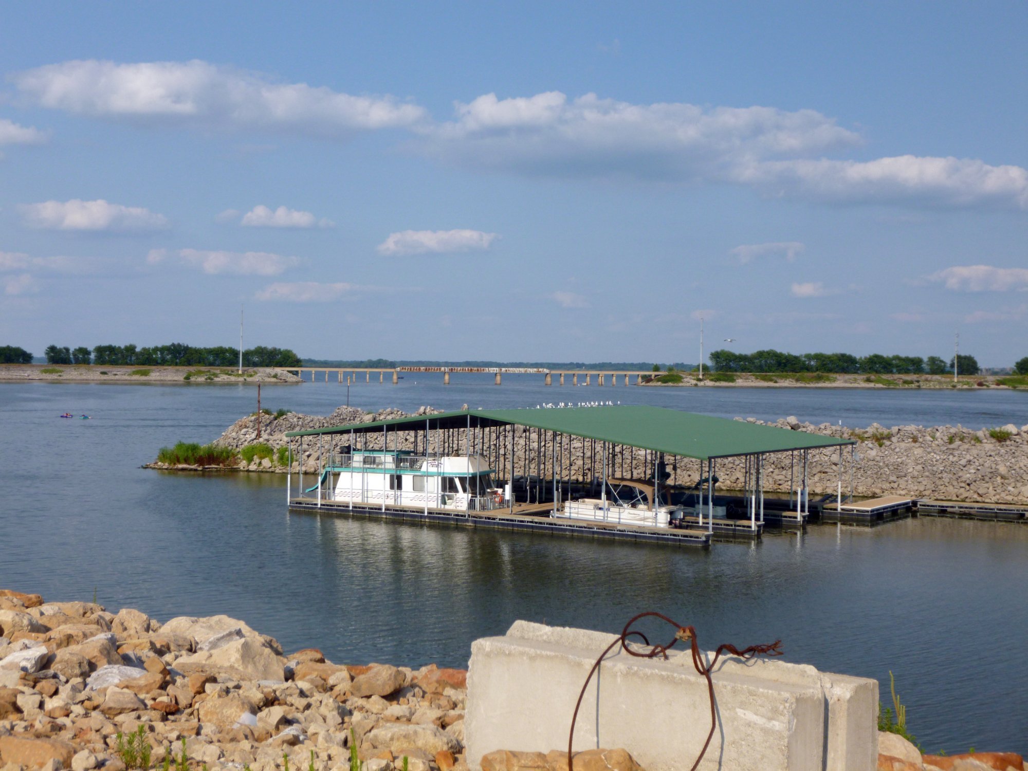
<svg viewBox="0 0 1028 771">
<path fill-rule="evenodd" d="M 20 348 L 21 350 L 21 348 Z M 235 367 L 240 350 L 227 345 L 197 347 L 184 342 L 168 345 L 47 345 L 43 352 L 47 364 L 98 364 L 166 367 Z M 32 361 L 31 354 L 29 362 Z M 289 348 L 256 345 L 243 352 L 244 367 L 299 367 L 303 361 Z"/>
</svg>

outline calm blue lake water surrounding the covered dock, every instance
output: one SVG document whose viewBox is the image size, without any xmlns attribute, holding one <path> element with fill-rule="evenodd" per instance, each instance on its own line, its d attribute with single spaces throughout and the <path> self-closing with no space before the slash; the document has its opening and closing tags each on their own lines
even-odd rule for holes
<svg viewBox="0 0 1028 771">
<path fill-rule="evenodd" d="M 528 378 L 362 384 L 365 408 L 613 401 L 866 426 L 1028 424 L 1028 395 L 545 388 Z M 345 386 L 262 389 L 328 413 Z M 616 631 L 658 610 L 707 648 L 783 640 L 830 671 L 888 671 L 926 750 L 1028 752 L 1028 527 L 909 520 L 812 527 L 709 552 L 289 514 L 278 476 L 140 469 L 254 408 L 250 387 L 0 386 L 0 586 L 175 615 L 226 613 L 344 662 L 464 666 L 515 619 Z M 91 420 L 63 420 L 64 411 Z"/>
</svg>

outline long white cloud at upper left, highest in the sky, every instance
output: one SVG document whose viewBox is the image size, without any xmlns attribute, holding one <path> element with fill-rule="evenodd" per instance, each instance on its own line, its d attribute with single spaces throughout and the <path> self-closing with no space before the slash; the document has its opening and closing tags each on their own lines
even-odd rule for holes
<svg viewBox="0 0 1028 771">
<path fill-rule="evenodd" d="M 423 108 L 394 97 L 283 83 L 197 60 L 63 62 L 15 73 L 10 80 L 42 107 L 136 123 L 339 137 L 407 126 L 425 117 Z"/>
</svg>

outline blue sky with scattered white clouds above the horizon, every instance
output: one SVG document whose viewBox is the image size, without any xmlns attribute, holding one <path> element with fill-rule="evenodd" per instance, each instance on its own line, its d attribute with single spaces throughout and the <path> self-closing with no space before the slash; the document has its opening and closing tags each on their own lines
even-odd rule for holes
<svg viewBox="0 0 1028 771">
<path fill-rule="evenodd" d="M 0 344 L 1028 355 L 1028 5 L 7 3 Z M 726 342 L 725 340 L 731 340 Z"/>
</svg>

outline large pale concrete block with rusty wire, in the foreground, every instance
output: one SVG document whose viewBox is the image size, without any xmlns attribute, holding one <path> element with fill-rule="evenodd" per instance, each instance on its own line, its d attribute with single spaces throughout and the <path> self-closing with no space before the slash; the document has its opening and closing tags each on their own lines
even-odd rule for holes
<svg viewBox="0 0 1028 771">
<path fill-rule="evenodd" d="M 567 744 L 572 712 L 599 653 L 616 635 L 516 622 L 472 645 L 467 759 L 495 749 Z M 874 771 L 878 684 L 775 660 L 725 659 L 712 674 L 718 730 L 704 771 Z M 706 680 L 688 652 L 667 661 L 623 652 L 593 676 L 577 750 L 624 747 L 648 771 L 689 768 L 710 727 Z"/>
</svg>

